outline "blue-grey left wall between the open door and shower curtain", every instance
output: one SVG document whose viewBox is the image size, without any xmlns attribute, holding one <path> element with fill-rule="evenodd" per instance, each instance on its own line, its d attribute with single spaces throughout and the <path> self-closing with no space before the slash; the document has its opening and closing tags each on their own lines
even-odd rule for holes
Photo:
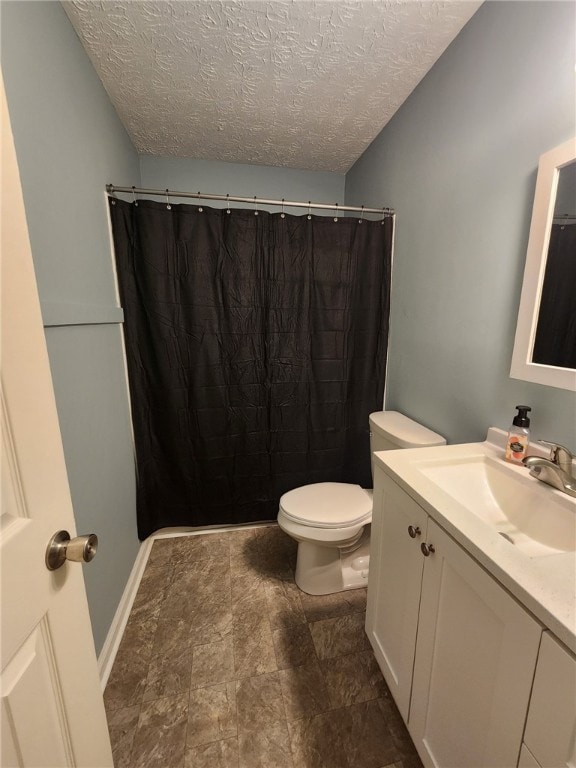
<svg viewBox="0 0 576 768">
<path fill-rule="evenodd" d="M 138 156 L 59 2 L 0 6 L 2 72 L 97 651 L 139 543 L 104 186 Z"/>
</svg>

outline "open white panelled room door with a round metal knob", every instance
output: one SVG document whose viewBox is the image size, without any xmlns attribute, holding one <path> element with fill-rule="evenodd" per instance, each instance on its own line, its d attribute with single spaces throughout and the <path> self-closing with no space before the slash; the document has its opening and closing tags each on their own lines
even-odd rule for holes
<svg viewBox="0 0 576 768">
<path fill-rule="evenodd" d="M 3 84 L 0 90 L 1 764 L 109 768 L 83 566 L 45 565 L 52 535 L 65 529 L 74 536 L 75 524 Z"/>
</svg>

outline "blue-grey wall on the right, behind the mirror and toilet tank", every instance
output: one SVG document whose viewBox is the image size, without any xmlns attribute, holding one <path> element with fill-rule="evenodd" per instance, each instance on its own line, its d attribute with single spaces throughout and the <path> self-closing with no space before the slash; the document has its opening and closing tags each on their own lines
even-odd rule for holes
<svg viewBox="0 0 576 768">
<path fill-rule="evenodd" d="M 509 378 L 538 158 L 576 132 L 575 9 L 486 2 L 346 177 L 398 214 L 386 405 L 450 442 L 526 403 L 576 449 L 574 393 Z"/>
</svg>

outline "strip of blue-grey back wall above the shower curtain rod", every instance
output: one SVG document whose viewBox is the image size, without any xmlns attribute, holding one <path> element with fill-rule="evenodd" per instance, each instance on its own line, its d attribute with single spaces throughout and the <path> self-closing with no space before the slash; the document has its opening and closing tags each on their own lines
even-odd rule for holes
<svg viewBox="0 0 576 768">
<path fill-rule="evenodd" d="M 342 173 L 322 171 L 301 171 L 293 168 L 271 168 L 262 165 L 242 165 L 210 160 L 192 160 L 180 157 L 140 156 L 142 186 L 149 189 L 175 189 L 179 192 L 211 192 L 216 195 L 238 197 L 266 197 L 275 200 L 293 200 L 318 203 L 344 202 L 344 181 Z M 118 182 L 115 182 L 118 183 Z M 131 186 L 118 183 L 118 186 Z M 177 202 L 195 202 L 180 199 Z M 215 208 L 225 203 L 206 202 Z M 232 203 L 231 207 L 246 207 Z M 250 206 L 248 206 L 250 207 Z M 262 209 L 278 212 L 277 207 L 261 206 Z M 306 214 L 306 209 L 286 209 L 295 215 Z M 322 211 L 314 211 L 321 214 Z M 331 215 L 331 214 L 330 214 Z"/>
</svg>

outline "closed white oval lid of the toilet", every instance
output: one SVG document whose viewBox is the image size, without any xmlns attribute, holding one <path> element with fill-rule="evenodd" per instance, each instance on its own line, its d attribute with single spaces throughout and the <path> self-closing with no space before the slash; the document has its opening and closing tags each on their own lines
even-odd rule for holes
<svg viewBox="0 0 576 768">
<path fill-rule="evenodd" d="M 314 483 L 288 491 L 280 509 L 296 523 L 316 528 L 357 525 L 372 514 L 372 497 L 351 483 Z"/>
</svg>

